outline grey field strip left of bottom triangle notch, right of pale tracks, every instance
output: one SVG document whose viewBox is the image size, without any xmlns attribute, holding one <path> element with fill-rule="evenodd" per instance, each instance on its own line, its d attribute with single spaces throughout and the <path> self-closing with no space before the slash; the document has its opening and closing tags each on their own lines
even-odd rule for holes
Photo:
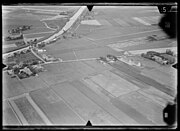
<svg viewBox="0 0 180 131">
<path fill-rule="evenodd" d="M 52 89 L 30 93 L 32 99 L 55 125 L 84 125 L 84 121 Z"/>
</svg>

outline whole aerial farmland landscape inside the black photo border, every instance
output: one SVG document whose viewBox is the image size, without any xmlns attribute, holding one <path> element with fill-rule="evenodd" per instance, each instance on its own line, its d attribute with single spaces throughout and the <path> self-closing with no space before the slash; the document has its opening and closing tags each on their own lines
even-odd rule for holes
<svg viewBox="0 0 180 131">
<path fill-rule="evenodd" d="M 167 125 L 177 40 L 158 26 L 156 6 L 2 10 L 4 126 Z"/>
</svg>

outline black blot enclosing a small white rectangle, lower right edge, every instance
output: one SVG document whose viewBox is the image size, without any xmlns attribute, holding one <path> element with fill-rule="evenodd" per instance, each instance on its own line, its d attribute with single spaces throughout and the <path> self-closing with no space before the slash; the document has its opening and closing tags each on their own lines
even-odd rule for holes
<svg viewBox="0 0 180 131">
<path fill-rule="evenodd" d="M 176 122 L 176 98 L 174 103 L 168 103 L 163 110 L 163 119 L 168 126 Z"/>
</svg>

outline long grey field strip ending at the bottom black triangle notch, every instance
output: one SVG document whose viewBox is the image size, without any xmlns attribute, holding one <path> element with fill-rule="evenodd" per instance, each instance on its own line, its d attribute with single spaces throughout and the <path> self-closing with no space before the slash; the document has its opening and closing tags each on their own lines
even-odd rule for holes
<svg viewBox="0 0 180 131">
<path fill-rule="evenodd" d="M 58 95 L 62 96 L 85 121 L 90 120 L 93 125 L 111 125 L 119 123 L 71 84 L 62 83 L 52 88 Z M 76 98 L 76 100 L 74 98 Z"/>
</svg>

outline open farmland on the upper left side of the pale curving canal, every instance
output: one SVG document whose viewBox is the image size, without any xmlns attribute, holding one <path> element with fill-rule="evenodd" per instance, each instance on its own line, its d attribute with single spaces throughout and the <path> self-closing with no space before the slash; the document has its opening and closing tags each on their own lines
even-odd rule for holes
<svg viewBox="0 0 180 131">
<path fill-rule="evenodd" d="M 59 11 L 53 11 L 52 8 L 47 10 L 45 9 L 37 9 L 33 7 L 3 7 L 3 37 L 7 37 L 10 34 L 8 30 L 15 29 L 22 25 L 31 25 L 30 30 L 23 31 L 25 35 L 25 39 L 40 39 L 51 36 L 57 30 L 62 29 L 62 27 L 66 24 L 69 17 L 73 15 L 73 13 L 78 9 L 72 8 L 69 11 L 69 14 L 65 16 L 59 15 L 61 11 L 67 11 L 67 9 Z M 65 18 L 64 18 L 65 17 Z M 46 20 L 47 19 L 47 20 Z M 50 20 L 48 20 L 50 19 Z M 11 43 L 14 43 L 12 41 Z M 3 44 L 10 44 L 9 42 L 4 41 Z M 9 52 L 13 49 L 18 49 L 15 47 L 6 47 L 4 52 Z"/>
</svg>

